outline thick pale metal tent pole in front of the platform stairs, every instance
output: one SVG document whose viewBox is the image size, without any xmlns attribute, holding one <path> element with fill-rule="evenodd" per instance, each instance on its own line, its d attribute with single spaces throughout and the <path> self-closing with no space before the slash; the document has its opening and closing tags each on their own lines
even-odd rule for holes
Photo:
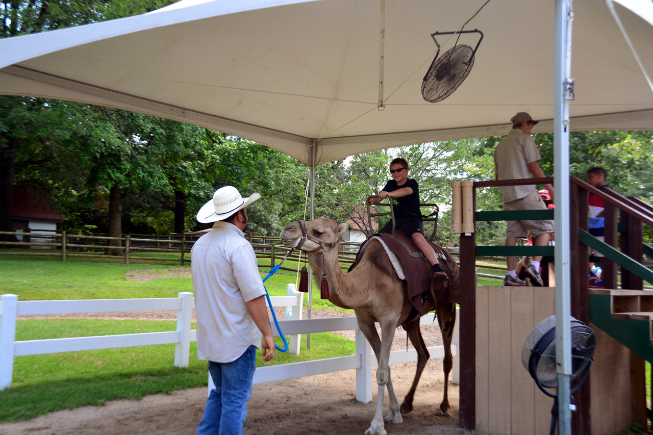
<svg viewBox="0 0 653 435">
<path fill-rule="evenodd" d="M 556 0 L 554 61 L 554 209 L 556 235 L 556 372 L 560 435 L 571 434 L 571 265 L 569 263 L 569 97 L 571 72 L 571 0 Z M 583 261 L 582 259 L 579 261 Z"/>
</svg>

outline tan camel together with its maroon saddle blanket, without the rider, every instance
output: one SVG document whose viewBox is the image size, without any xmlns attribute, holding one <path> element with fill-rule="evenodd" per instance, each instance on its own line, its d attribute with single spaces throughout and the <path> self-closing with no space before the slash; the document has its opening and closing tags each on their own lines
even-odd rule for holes
<svg viewBox="0 0 653 435">
<path fill-rule="evenodd" d="M 458 265 L 446 250 L 436 245 L 436 252 L 439 251 L 441 255 L 438 261 L 447 271 L 448 278 L 439 285 L 434 285 L 432 274 L 422 276 L 421 270 L 426 270 L 427 265 L 421 258 L 421 253 L 417 255 L 416 251 L 419 250 L 411 242 L 394 238 L 392 234 L 377 234 L 366 241 L 364 249 L 361 247 L 355 265 L 345 273 L 338 263 L 338 246 L 342 240 L 340 234 L 346 230 L 346 223 L 338 225 L 331 219 L 318 217 L 312 221 L 289 223 L 279 237 L 288 248 L 302 250 L 307 254 L 313 278 L 316 283 L 321 283 L 323 298 L 341 308 L 354 310 L 358 327 L 376 355 L 377 403 L 374 417 L 365 434 L 385 435 L 384 423 L 402 423 L 402 414 L 413 410 L 415 390 L 430 357 L 422 339 L 419 319 L 432 311 L 436 312 L 445 349 L 443 398 L 436 414 L 451 415 L 447 390 L 449 372 L 453 365 L 451 340 L 456 309 L 450 299 L 453 290 L 457 290 L 453 285 L 458 284 Z M 395 232 L 395 235 L 398 236 L 398 233 Z M 408 249 L 404 246 L 408 246 Z M 397 251 L 396 259 L 391 254 L 393 250 Z M 375 322 L 381 325 L 381 337 Z M 406 329 L 408 338 L 417 351 L 415 378 L 401 405 L 394 395 L 389 366 L 390 348 L 399 326 Z M 383 396 L 386 387 L 390 412 L 384 417 Z"/>
</svg>

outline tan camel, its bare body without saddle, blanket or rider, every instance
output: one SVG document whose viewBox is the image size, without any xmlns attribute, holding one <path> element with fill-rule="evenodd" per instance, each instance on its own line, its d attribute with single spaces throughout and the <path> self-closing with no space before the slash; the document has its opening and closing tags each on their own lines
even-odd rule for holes
<svg viewBox="0 0 653 435">
<path fill-rule="evenodd" d="M 308 261 L 313 270 L 315 282 L 322 280 L 323 271 L 326 271 L 330 289 L 329 300 L 341 308 L 353 308 L 358 327 L 363 332 L 368 342 L 372 345 L 374 354 L 379 362 L 376 379 L 378 384 L 377 404 L 374 418 L 365 435 L 385 435 L 384 421 L 389 423 L 402 423 L 402 413 L 413 410 L 413 397 L 417 383 L 424 370 L 429 355 L 422 334 L 419 329 L 419 317 L 411 317 L 411 302 L 407 298 L 406 282 L 398 278 L 392 264 L 376 240 L 370 240 L 362 252 L 358 265 L 345 273 L 338 264 L 338 243 L 340 233 L 347 229 L 346 223 L 338 225 L 335 221 L 325 217 L 318 217 L 313 221 L 294 221 L 285 226 L 280 237 L 283 244 L 290 248 L 297 248 L 308 253 Z M 427 306 L 428 305 L 428 306 Z M 455 310 L 450 302 L 425 302 L 422 313 L 426 314 L 436 310 L 438 323 L 442 331 L 445 347 L 444 374 L 445 387 L 443 400 L 437 412 L 438 415 L 451 415 L 447 385 L 449 372 L 452 366 L 451 336 L 455 322 Z M 377 334 L 374 322 L 381 325 L 381 338 Z M 394 331 L 402 326 L 407 330 L 411 343 L 417 350 L 417 371 L 410 391 L 400 406 L 392 389 L 390 379 L 390 347 L 394 338 Z M 385 387 L 388 389 L 390 413 L 383 417 L 383 395 Z"/>
</svg>

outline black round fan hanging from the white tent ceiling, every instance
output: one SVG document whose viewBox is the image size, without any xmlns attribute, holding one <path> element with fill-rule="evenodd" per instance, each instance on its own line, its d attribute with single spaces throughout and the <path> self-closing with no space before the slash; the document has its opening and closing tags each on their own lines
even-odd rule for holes
<svg viewBox="0 0 653 435">
<path fill-rule="evenodd" d="M 447 50 L 438 59 L 440 44 L 436 40 L 436 35 L 454 35 L 456 33 L 458 34 L 458 38 L 460 38 L 461 33 L 479 33 L 481 37 L 475 48 L 471 48 L 465 44 L 458 44 L 458 40 L 456 40 L 454 47 Z M 481 40 L 483 40 L 483 33 L 475 29 L 456 32 L 436 32 L 432 33 L 431 37 L 438 46 L 438 52 L 436 52 L 436 57 L 433 58 L 431 66 L 426 71 L 426 75 L 424 75 L 424 79 L 422 80 L 422 97 L 430 103 L 438 103 L 438 101 L 449 97 L 449 95 L 458 89 L 458 86 L 470 74 L 471 67 L 474 66 L 476 50 L 478 50 Z"/>
</svg>

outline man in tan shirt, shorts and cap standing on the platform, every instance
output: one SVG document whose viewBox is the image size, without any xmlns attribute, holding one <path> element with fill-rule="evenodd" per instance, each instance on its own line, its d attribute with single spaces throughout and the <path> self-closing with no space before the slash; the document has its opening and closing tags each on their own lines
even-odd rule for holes
<svg viewBox="0 0 653 435">
<path fill-rule="evenodd" d="M 496 180 L 518 180 L 522 178 L 543 178 L 544 172 L 539 167 L 541 160 L 535 141 L 530 137 L 531 129 L 539 121 L 534 121 L 526 112 L 517 112 L 513 118 L 513 129 L 494 149 L 494 176 Z M 553 201 L 553 187 L 550 184 L 543 185 L 548 190 L 550 199 Z M 529 185 L 507 185 L 499 187 L 503 210 L 537 210 L 546 209 L 534 184 Z M 524 221 L 507 221 L 505 246 L 515 246 L 517 238 L 528 236 L 530 231 L 533 234 L 535 246 L 547 246 L 549 236 L 553 233 L 553 221 L 551 219 L 532 219 Z M 541 255 L 533 256 L 533 263 L 526 268 L 526 274 L 535 285 L 543 285 L 539 274 L 539 262 Z M 515 256 L 505 257 L 508 274 L 503 279 L 503 285 L 526 285 L 520 280 L 515 271 Z"/>
</svg>

